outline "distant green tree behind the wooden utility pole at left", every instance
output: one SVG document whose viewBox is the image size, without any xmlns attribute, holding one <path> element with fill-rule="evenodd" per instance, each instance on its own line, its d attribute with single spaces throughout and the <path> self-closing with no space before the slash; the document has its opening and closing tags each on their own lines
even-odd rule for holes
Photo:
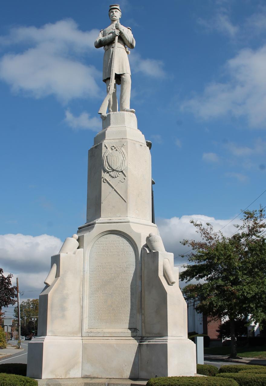
<svg viewBox="0 0 266 386">
<path fill-rule="evenodd" d="M 32 331 L 37 335 L 38 330 L 39 299 L 27 299 L 20 303 L 20 323 L 24 334 L 28 335 Z M 17 318 L 17 308 L 14 309 Z M 27 333 L 28 332 L 28 333 Z"/>
</svg>

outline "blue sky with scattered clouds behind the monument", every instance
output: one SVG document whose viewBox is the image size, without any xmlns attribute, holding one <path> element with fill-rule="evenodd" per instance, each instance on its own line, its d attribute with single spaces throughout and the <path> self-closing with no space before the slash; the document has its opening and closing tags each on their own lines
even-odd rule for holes
<svg viewBox="0 0 266 386">
<path fill-rule="evenodd" d="M 266 4 L 120 5 L 136 40 L 131 107 L 153 143 L 155 216 L 177 256 L 179 240 L 194 237 L 191 217 L 220 229 L 266 189 Z M 0 260 L 24 289 L 42 287 L 51 254 L 86 219 L 87 154 L 105 93 L 94 40 L 108 9 L 106 1 L 2 4 Z M 266 194 L 251 208 L 259 203 Z"/>
</svg>

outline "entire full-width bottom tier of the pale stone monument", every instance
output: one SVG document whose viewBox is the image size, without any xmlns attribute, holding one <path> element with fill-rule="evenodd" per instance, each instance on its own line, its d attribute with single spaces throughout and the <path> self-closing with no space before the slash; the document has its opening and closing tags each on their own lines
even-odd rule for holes
<svg viewBox="0 0 266 386">
<path fill-rule="evenodd" d="M 43 379 L 42 385 L 61 384 L 60 378 L 66 384 L 97 378 L 98 385 L 118 377 L 125 380 L 119 384 L 128 384 L 127 379 L 194 376 L 195 357 L 195 344 L 178 337 L 37 337 L 29 342 L 27 376 Z"/>
</svg>

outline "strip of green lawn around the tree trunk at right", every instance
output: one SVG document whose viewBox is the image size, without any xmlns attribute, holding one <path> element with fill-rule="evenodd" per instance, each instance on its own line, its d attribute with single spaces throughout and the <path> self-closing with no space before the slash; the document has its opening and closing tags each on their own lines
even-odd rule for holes
<svg viewBox="0 0 266 386">
<path fill-rule="evenodd" d="M 209 347 L 204 349 L 204 354 L 230 355 L 230 347 Z M 243 358 L 266 359 L 266 346 L 237 347 L 237 355 Z"/>
</svg>

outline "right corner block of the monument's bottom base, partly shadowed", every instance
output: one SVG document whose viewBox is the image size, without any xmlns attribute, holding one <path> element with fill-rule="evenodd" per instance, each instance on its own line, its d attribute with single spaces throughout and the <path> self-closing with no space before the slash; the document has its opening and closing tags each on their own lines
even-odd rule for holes
<svg viewBox="0 0 266 386">
<path fill-rule="evenodd" d="M 194 376 L 195 344 L 178 337 L 142 338 L 139 344 L 140 378 Z"/>
</svg>

